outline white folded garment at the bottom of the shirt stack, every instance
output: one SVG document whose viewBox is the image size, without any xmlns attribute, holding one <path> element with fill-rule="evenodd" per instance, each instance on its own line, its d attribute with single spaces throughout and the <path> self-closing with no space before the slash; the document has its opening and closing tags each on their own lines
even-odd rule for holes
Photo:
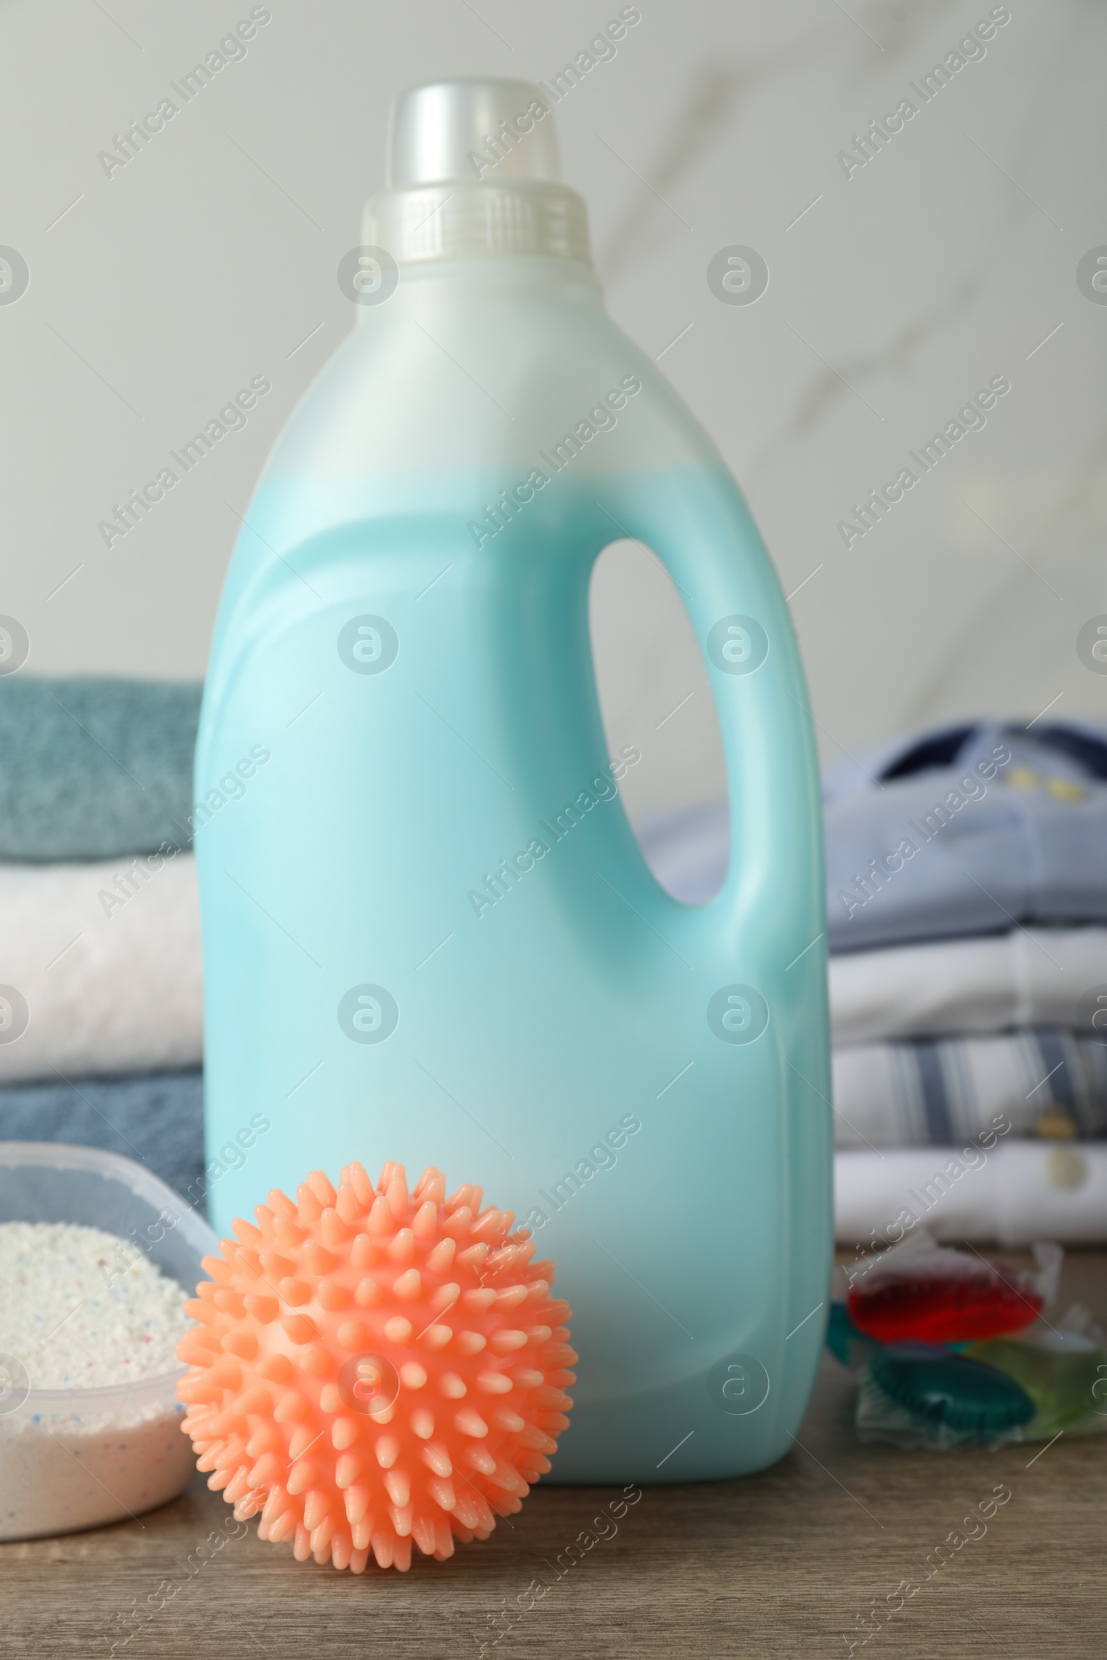
<svg viewBox="0 0 1107 1660">
<path fill-rule="evenodd" d="M 895 1245 L 926 1223 L 939 1240 L 1107 1242 L 1107 1147 L 999 1142 L 835 1154 L 840 1245 Z"/>
</svg>

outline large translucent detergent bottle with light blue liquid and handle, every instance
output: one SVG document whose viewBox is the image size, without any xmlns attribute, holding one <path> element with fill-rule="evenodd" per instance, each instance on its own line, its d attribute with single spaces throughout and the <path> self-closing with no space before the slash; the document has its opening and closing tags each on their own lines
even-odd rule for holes
<svg viewBox="0 0 1107 1660">
<path fill-rule="evenodd" d="M 357 325 L 280 435 L 196 757 L 207 1204 L 435 1164 L 533 1230 L 579 1351 L 548 1479 L 758 1469 L 831 1252 L 822 822 L 777 576 L 607 317 L 549 98 L 405 93 L 339 271 Z M 589 642 L 602 548 L 684 594 L 727 760 L 722 890 L 651 875 Z"/>
</svg>

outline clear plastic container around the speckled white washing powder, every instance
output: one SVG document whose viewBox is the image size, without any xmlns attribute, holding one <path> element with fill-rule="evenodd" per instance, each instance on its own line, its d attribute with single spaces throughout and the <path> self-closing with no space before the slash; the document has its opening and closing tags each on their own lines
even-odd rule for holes
<svg viewBox="0 0 1107 1660">
<path fill-rule="evenodd" d="M 207 1223 L 138 1164 L 55 1142 L 0 1142 L 0 1222 L 105 1228 L 186 1290 L 217 1250 Z M 196 1469 L 176 1398 L 186 1370 L 105 1389 L 30 1389 L 18 1356 L 0 1356 L 0 1539 L 98 1527 L 174 1499 Z"/>
</svg>

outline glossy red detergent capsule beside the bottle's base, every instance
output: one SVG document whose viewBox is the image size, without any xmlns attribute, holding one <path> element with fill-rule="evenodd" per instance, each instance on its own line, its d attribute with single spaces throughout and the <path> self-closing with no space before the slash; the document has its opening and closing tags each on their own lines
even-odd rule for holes
<svg viewBox="0 0 1107 1660">
<path fill-rule="evenodd" d="M 846 1306 L 878 1343 L 969 1343 L 1029 1326 L 1044 1298 L 1032 1273 L 941 1248 L 875 1262 L 850 1286 Z"/>
</svg>

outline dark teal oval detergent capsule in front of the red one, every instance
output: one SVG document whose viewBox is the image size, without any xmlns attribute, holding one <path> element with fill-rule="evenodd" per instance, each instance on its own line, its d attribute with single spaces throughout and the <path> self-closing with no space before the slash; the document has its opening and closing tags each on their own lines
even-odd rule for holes
<svg viewBox="0 0 1107 1660">
<path fill-rule="evenodd" d="M 1034 1401 L 1014 1378 L 934 1343 L 893 1343 L 870 1361 L 873 1381 L 928 1424 L 986 1441 L 1026 1424 Z"/>
</svg>

